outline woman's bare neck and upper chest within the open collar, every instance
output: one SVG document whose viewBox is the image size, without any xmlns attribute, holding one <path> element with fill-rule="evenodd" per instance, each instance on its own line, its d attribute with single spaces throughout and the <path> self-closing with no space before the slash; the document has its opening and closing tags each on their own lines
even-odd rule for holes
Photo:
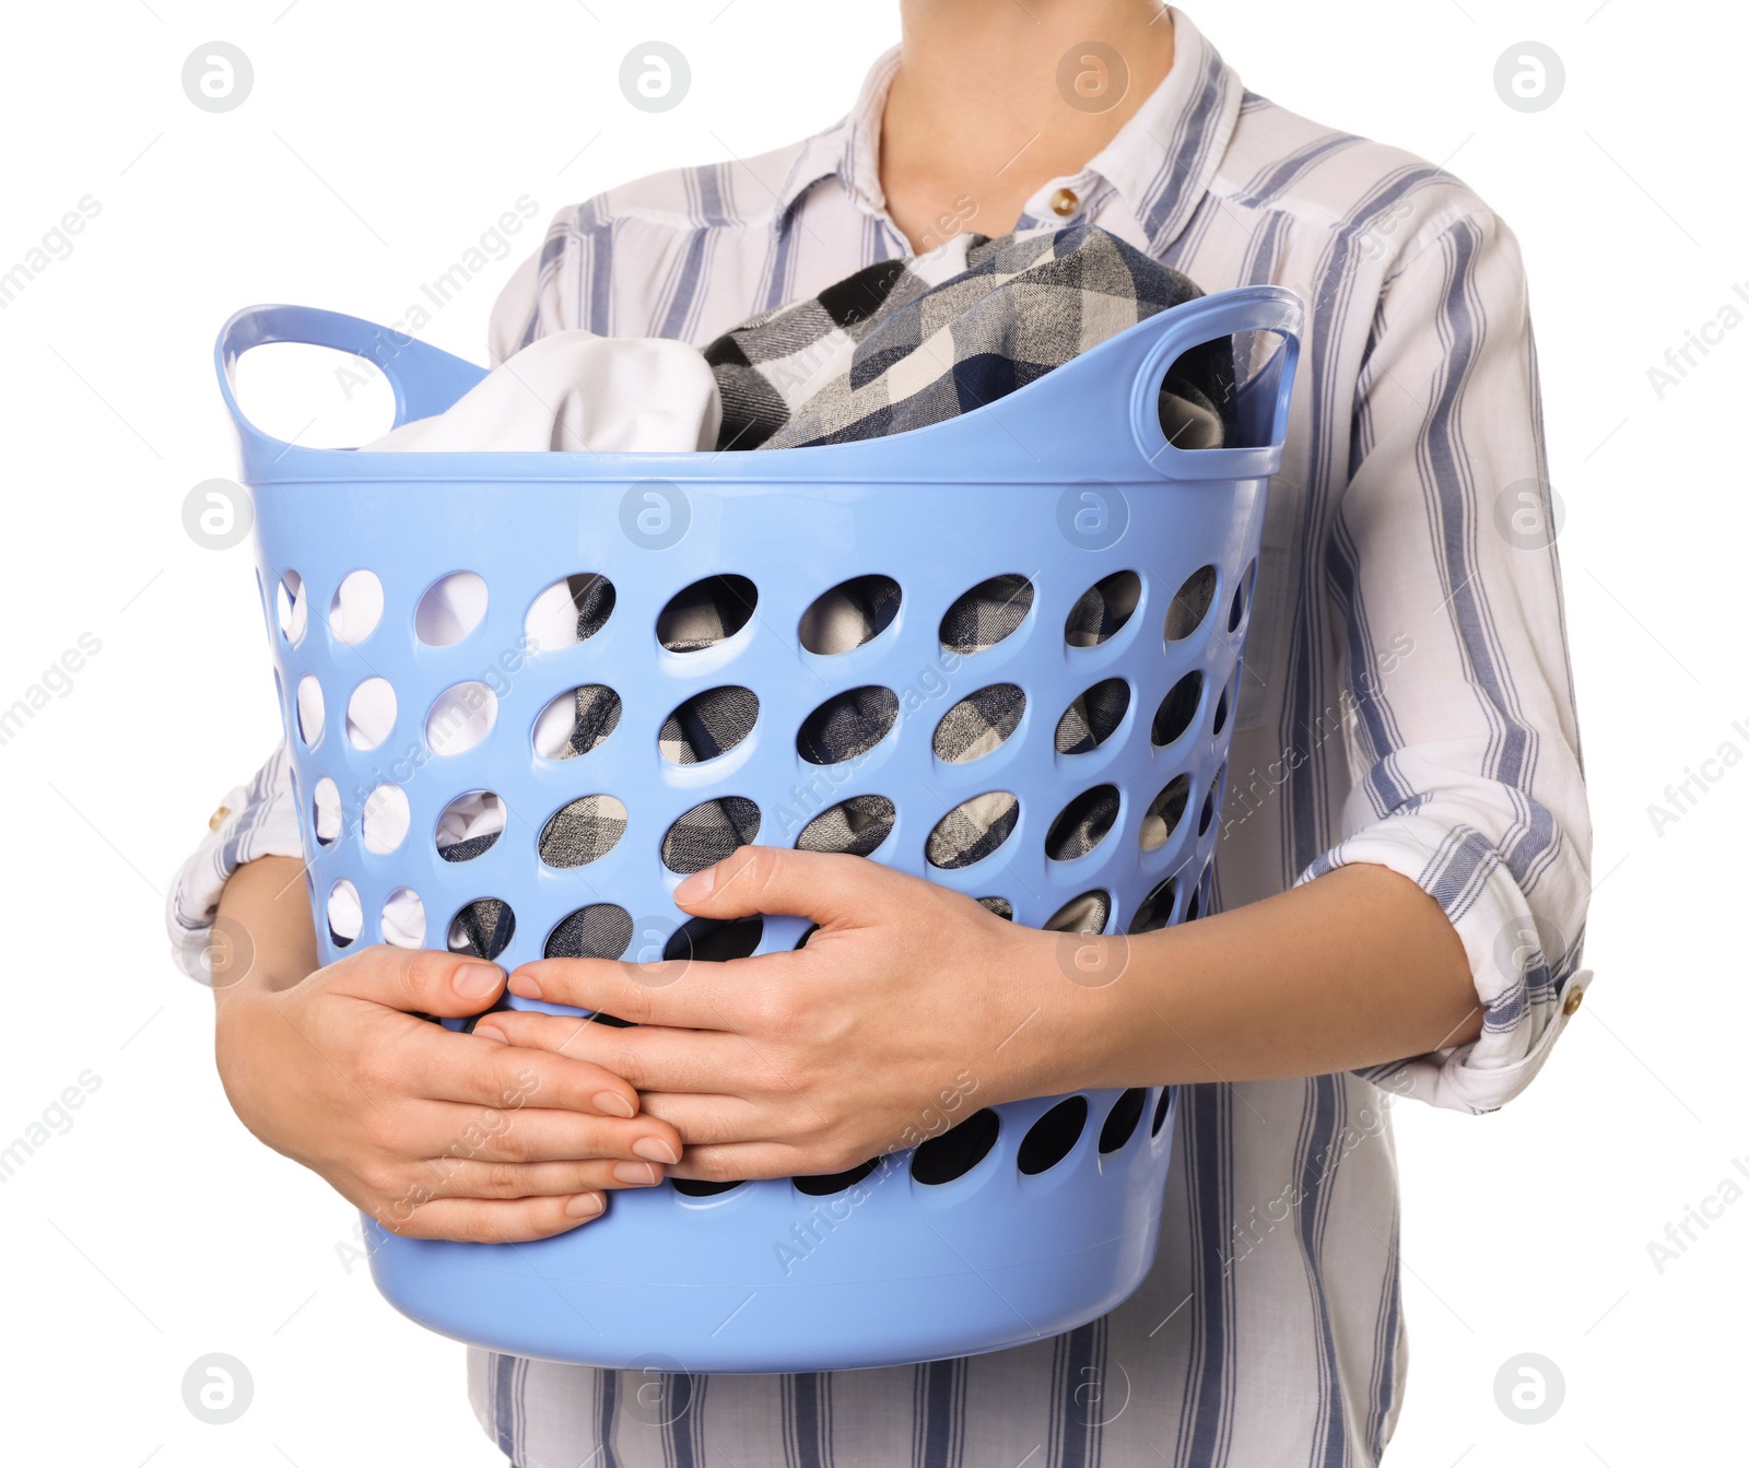
<svg viewBox="0 0 1749 1468">
<path fill-rule="evenodd" d="M 1156 0 L 902 0 L 880 180 L 911 247 L 1004 234 L 1076 173 L 1172 70 Z"/>
</svg>

